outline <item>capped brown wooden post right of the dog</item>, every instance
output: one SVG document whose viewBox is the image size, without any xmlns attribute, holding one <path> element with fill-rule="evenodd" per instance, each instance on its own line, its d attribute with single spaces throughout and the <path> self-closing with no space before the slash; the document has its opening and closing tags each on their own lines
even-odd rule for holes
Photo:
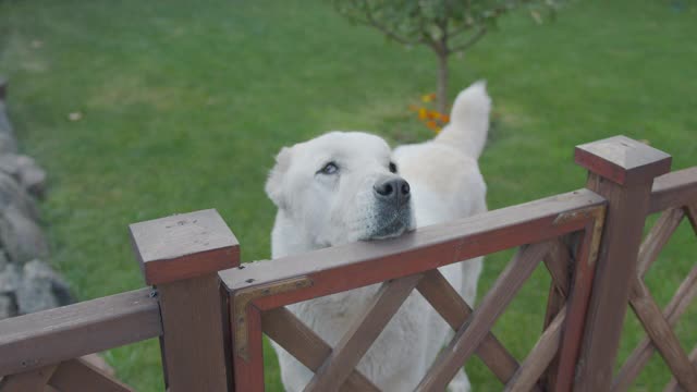
<svg viewBox="0 0 697 392">
<path fill-rule="evenodd" d="M 608 210 L 574 390 L 609 391 L 651 185 L 670 171 L 671 157 L 615 136 L 577 146 L 575 158 L 588 169 L 586 187 L 608 200 Z"/>
</svg>

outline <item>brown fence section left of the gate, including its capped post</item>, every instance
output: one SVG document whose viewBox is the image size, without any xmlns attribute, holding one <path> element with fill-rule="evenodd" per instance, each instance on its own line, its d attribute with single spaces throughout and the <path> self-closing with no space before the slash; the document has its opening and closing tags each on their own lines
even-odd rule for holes
<svg viewBox="0 0 697 392">
<path fill-rule="evenodd" d="M 217 273 L 239 266 L 236 238 L 215 210 L 131 234 L 154 287 L 1 320 L 0 391 L 132 391 L 80 356 L 157 336 L 170 391 L 232 389 Z"/>
</svg>

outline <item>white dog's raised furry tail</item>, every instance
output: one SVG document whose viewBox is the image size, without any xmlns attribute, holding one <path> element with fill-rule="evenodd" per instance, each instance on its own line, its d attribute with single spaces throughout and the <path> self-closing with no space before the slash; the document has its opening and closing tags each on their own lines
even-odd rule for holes
<svg viewBox="0 0 697 392">
<path fill-rule="evenodd" d="M 487 83 L 476 82 L 457 95 L 450 113 L 450 124 L 435 142 L 456 146 L 467 156 L 479 158 L 487 143 L 490 110 L 491 98 L 487 94 Z"/>
</svg>

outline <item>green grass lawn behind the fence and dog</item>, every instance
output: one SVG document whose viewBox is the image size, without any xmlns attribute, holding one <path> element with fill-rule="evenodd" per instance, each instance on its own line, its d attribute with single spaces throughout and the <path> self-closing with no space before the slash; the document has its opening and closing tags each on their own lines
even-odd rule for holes
<svg viewBox="0 0 697 392">
<path fill-rule="evenodd" d="M 682 7 L 682 8 L 681 8 Z M 582 187 L 573 146 L 626 134 L 697 164 L 697 7 L 688 1 L 572 2 L 555 23 L 525 13 L 451 62 L 451 96 L 478 78 L 494 100 L 481 158 L 489 206 Z M 48 170 L 42 204 L 54 266 L 81 299 L 143 286 L 131 222 L 217 208 L 244 260 L 269 255 L 273 208 L 262 184 L 283 145 L 332 128 L 393 143 L 429 132 L 407 106 L 433 90 L 424 48 L 386 42 L 321 1 L 0 0 L 0 73 L 22 149 Z M 83 119 L 69 121 L 71 112 Z M 665 304 L 695 262 L 687 226 L 648 284 Z M 510 257 L 488 257 L 480 295 Z M 549 278 L 536 271 L 494 332 L 519 358 L 539 336 Z M 644 338 L 627 317 L 621 359 Z M 697 342 L 697 307 L 677 327 Z M 120 378 L 162 389 L 156 342 L 110 351 Z M 281 390 L 268 350 L 267 388 Z M 499 389 L 478 363 L 478 391 Z M 658 355 L 637 381 L 668 381 Z"/>
</svg>

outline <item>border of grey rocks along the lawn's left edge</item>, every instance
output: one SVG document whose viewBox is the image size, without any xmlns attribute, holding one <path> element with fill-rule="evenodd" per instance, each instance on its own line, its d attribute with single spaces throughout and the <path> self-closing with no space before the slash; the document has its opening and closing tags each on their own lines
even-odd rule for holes
<svg viewBox="0 0 697 392">
<path fill-rule="evenodd" d="M 68 284 L 39 260 L 48 256 L 48 243 L 34 197 L 44 195 L 46 172 L 17 155 L 5 95 L 0 76 L 0 319 L 73 303 Z"/>
</svg>

